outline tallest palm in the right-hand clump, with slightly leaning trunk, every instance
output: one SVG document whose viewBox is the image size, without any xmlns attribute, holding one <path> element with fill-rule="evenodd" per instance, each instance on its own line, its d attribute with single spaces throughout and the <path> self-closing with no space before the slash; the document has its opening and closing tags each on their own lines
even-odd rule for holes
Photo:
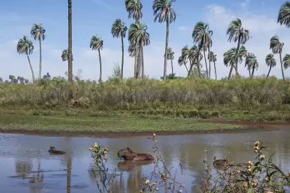
<svg viewBox="0 0 290 193">
<path fill-rule="evenodd" d="M 235 49 L 235 74 L 238 75 L 238 52 L 240 50 L 240 44 L 244 45 L 249 40 L 249 30 L 242 27 L 242 21 L 240 19 L 234 19 L 226 30 L 226 34 L 229 35 L 229 42 L 238 41 L 237 49 Z"/>
</svg>

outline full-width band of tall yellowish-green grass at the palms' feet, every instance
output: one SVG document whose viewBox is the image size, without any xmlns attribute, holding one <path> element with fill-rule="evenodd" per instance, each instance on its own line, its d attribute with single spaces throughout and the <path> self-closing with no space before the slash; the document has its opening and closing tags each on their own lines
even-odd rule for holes
<svg viewBox="0 0 290 193">
<path fill-rule="evenodd" d="M 73 100 L 69 99 L 72 87 Z M 255 79 L 109 79 L 105 83 L 64 79 L 37 85 L 0 83 L 0 105 L 59 108 L 76 105 L 94 110 L 204 108 L 224 106 L 242 110 L 285 110 L 290 103 L 290 80 Z"/>
</svg>

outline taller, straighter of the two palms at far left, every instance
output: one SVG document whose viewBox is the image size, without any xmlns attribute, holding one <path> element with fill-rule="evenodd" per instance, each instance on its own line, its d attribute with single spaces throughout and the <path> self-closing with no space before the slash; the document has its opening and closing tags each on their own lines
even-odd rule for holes
<svg viewBox="0 0 290 193">
<path fill-rule="evenodd" d="M 31 37 L 33 39 L 39 41 L 39 76 L 38 79 L 41 79 L 41 41 L 46 39 L 46 30 L 42 27 L 42 23 L 35 24 L 33 23 L 33 26 L 30 30 Z"/>
</svg>

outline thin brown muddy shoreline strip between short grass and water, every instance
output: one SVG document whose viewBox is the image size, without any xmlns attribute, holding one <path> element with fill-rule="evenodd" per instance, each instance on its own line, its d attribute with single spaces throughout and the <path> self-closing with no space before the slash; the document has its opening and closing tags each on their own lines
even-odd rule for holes
<svg viewBox="0 0 290 193">
<path fill-rule="evenodd" d="M 205 121 L 207 122 L 207 121 Z M 227 121 L 222 121 L 223 123 L 228 123 Z M 229 121 L 230 123 L 231 121 Z M 238 121 L 235 121 L 238 122 Z M 237 124 L 239 123 L 230 123 Z M 241 126 L 243 123 L 241 124 Z M 267 125 L 267 124 L 266 124 Z M 280 128 L 274 128 L 266 126 L 265 124 L 256 125 L 248 123 L 246 126 L 242 126 L 239 129 L 217 129 L 211 131 L 197 131 L 197 132 L 155 132 L 159 136 L 168 135 L 186 135 L 186 134 L 235 134 L 235 133 L 245 133 L 245 132 L 271 132 L 276 130 L 281 130 Z M 289 124 L 290 125 L 290 124 Z M 26 135 L 38 135 L 38 136 L 72 136 L 72 137 L 98 137 L 98 138 L 119 138 L 119 137 L 135 137 L 135 136 L 148 136 L 148 134 L 153 134 L 153 132 L 46 132 L 46 131 L 29 131 L 29 130 L 2 130 L 1 134 L 26 134 Z"/>
</svg>

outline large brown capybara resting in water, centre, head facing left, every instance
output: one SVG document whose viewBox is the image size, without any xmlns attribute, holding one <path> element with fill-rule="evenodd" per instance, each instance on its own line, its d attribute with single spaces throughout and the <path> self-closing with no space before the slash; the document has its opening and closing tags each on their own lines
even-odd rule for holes
<svg viewBox="0 0 290 193">
<path fill-rule="evenodd" d="M 154 157 L 151 156 L 151 154 L 135 153 L 130 148 L 124 148 L 122 150 L 119 150 L 118 157 L 123 158 L 124 160 L 133 160 L 133 161 L 135 161 L 135 160 L 140 160 L 140 161 L 154 160 Z"/>
</svg>

